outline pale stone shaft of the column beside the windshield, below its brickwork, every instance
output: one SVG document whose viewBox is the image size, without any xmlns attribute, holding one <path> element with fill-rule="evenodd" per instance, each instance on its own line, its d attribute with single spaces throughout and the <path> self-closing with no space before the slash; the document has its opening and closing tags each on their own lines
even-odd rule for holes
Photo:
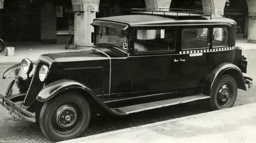
<svg viewBox="0 0 256 143">
<path fill-rule="evenodd" d="M 75 12 L 74 23 L 74 44 L 76 49 L 87 49 L 93 46 L 91 43 L 91 32 L 93 27 L 90 25 L 96 18 L 95 12 Z"/>
</svg>

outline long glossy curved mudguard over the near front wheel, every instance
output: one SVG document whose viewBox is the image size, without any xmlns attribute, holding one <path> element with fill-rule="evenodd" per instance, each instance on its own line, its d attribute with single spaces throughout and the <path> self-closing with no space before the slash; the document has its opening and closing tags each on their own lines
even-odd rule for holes
<svg viewBox="0 0 256 143">
<path fill-rule="evenodd" d="M 45 102 L 47 100 L 52 99 L 59 93 L 63 91 L 67 91 L 70 89 L 82 89 L 86 91 L 93 99 L 95 99 L 104 109 L 114 115 L 125 115 L 115 108 L 109 108 L 106 104 L 104 104 L 100 98 L 84 83 L 75 81 L 75 80 L 68 80 L 68 79 L 61 79 L 46 85 L 36 96 L 36 99 L 40 102 Z"/>
</svg>

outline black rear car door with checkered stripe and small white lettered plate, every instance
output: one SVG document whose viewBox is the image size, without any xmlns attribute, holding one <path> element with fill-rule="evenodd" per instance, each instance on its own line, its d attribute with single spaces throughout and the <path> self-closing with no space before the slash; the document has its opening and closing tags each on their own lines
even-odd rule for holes
<svg viewBox="0 0 256 143">
<path fill-rule="evenodd" d="M 211 70 L 210 31 L 206 26 L 180 29 L 178 90 L 203 86 L 205 75 Z"/>
</svg>

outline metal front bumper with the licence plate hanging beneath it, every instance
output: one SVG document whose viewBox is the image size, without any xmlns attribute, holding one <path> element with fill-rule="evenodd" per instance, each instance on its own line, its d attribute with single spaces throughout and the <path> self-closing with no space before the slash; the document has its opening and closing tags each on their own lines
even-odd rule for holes
<svg viewBox="0 0 256 143">
<path fill-rule="evenodd" d="M 0 94 L 0 104 L 9 110 L 9 113 L 19 120 L 26 120 L 29 122 L 36 122 L 36 113 L 31 113 L 24 108 L 20 107 L 18 104 L 12 102 L 11 100 L 5 98 Z"/>
</svg>

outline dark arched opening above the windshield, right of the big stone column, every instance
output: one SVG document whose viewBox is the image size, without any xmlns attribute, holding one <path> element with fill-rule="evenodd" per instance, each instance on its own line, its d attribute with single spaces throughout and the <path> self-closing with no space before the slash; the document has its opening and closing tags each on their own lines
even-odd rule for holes
<svg viewBox="0 0 256 143">
<path fill-rule="evenodd" d="M 144 0 L 100 0 L 96 18 L 129 15 L 130 8 L 146 8 Z"/>
</svg>

